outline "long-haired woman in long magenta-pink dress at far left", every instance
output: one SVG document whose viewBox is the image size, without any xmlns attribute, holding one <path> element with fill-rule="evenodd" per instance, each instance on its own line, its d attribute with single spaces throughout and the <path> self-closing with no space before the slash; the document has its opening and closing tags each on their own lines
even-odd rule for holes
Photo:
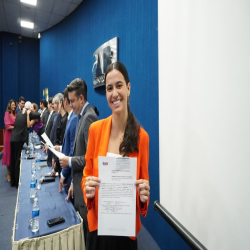
<svg viewBox="0 0 250 250">
<path fill-rule="evenodd" d="M 16 102 L 11 99 L 8 102 L 4 115 L 5 133 L 2 165 L 7 167 L 7 181 L 10 182 L 10 137 L 16 120 Z"/>
</svg>

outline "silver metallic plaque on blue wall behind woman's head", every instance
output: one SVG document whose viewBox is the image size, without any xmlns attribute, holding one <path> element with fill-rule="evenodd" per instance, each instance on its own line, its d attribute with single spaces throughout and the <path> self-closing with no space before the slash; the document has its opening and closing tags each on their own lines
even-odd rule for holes
<svg viewBox="0 0 250 250">
<path fill-rule="evenodd" d="M 94 88 L 105 85 L 104 74 L 109 64 L 118 59 L 118 37 L 114 37 L 100 46 L 95 53 L 92 68 Z"/>
</svg>

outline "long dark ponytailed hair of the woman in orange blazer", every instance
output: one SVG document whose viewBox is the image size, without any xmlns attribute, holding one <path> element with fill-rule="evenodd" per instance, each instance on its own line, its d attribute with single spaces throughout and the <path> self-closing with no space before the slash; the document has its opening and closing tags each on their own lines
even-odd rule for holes
<svg viewBox="0 0 250 250">
<path fill-rule="evenodd" d="M 105 72 L 105 85 L 106 85 L 106 78 L 109 72 L 112 70 L 118 70 L 123 75 L 126 85 L 130 82 L 128 71 L 126 67 L 121 62 L 114 62 L 110 64 Z M 128 119 L 125 127 L 125 132 L 123 136 L 123 141 L 119 147 L 119 153 L 123 156 L 128 155 L 128 153 L 133 153 L 134 151 L 138 152 L 138 141 L 139 141 L 139 130 L 140 124 L 135 118 L 134 114 L 130 111 L 129 107 L 129 99 L 128 98 Z"/>
</svg>

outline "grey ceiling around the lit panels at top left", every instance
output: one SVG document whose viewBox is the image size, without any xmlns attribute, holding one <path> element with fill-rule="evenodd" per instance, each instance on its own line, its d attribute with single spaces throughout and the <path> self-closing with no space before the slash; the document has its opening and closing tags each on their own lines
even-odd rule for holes
<svg viewBox="0 0 250 250">
<path fill-rule="evenodd" d="M 68 16 L 82 0 L 37 0 L 37 6 L 21 3 L 20 0 L 0 0 L 0 32 L 38 38 L 38 33 L 47 30 Z M 20 20 L 34 23 L 34 29 L 23 28 Z"/>
</svg>

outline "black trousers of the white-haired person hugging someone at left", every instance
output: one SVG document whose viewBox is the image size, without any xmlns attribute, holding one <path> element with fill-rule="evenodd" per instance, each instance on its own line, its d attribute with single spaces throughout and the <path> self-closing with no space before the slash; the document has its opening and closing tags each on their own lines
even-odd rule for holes
<svg viewBox="0 0 250 250">
<path fill-rule="evenodd" d="M 18 187 L 19 173 L 20 173 L 20 157 L 23 149 L 23 142 L 11 142 L 10 143 L 10 175 L 11 186 Z"/>
</svg>

